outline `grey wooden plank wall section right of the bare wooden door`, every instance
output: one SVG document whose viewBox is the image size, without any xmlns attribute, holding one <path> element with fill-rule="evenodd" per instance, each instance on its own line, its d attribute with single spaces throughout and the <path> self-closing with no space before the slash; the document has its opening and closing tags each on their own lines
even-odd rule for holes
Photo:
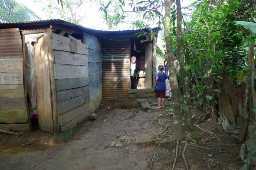
<svg viewBox="0 0 256 170">
<path fill-rule="evenodd" d="M 62 132 L 90 114 L 88 46 L 74 41 L 62 35 L 52 35 L 58 122 Z M 71 52 L 75 44 L 76 53 Z"/>
</svg>

